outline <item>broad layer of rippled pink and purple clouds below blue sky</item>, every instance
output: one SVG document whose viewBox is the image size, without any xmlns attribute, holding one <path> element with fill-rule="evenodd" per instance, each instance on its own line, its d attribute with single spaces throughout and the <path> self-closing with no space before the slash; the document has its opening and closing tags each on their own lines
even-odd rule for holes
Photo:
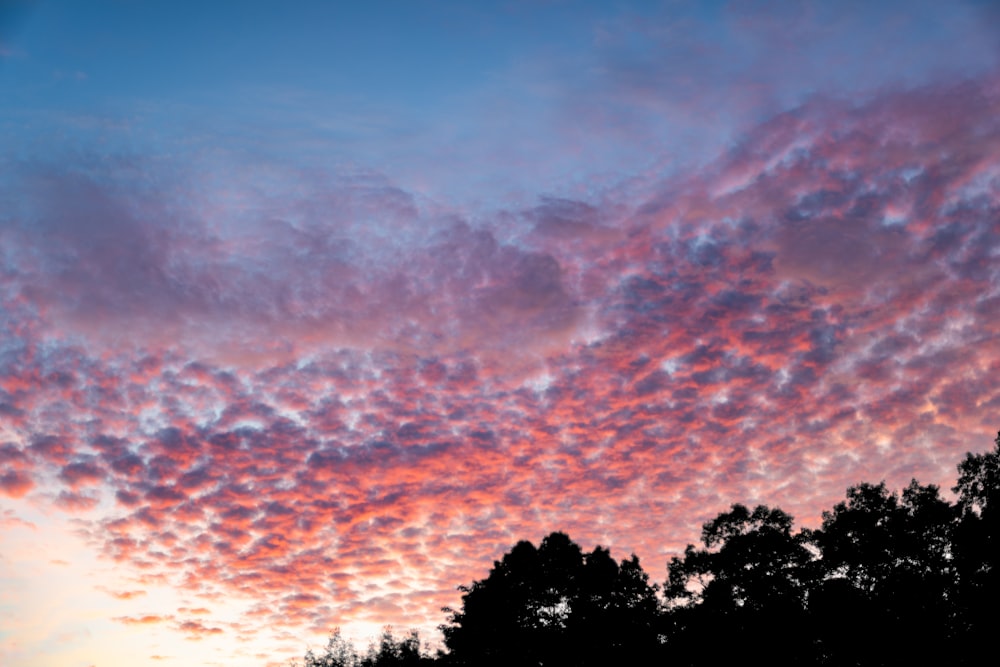
<svg viewBox="0 0 1000 667">
<path fill-rule="evenodd" d="M 518 539 L 662 578 L 731 502 L 948 485 L 997 428 L 998 155 L 984 76 L 476 219 L 367 172 L 8 160 L 0 493 L 252 600 L 115 619 L 197 639 L 432 628 Z"/>
</svg>

